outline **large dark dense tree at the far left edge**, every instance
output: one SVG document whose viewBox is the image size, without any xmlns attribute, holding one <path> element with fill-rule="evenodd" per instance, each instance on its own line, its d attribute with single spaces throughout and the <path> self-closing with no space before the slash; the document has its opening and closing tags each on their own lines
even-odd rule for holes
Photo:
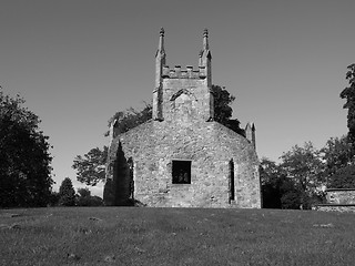
<svg viewBox="0 0 355 266">
<path fill-rule="evenodd" d="M 50 201 L 49 137 L 23 105 L 19 95 L 0 91 L 0 207 L 45 206 Z"/>
</svg>

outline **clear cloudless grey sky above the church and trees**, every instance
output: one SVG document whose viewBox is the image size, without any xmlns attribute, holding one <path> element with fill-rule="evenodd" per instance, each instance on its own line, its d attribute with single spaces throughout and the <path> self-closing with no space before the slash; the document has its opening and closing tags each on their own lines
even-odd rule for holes
<svg viewBox="0 0 355 266">
<path fill-rule="evenodd" d="M 354 0 L 0 0 L 0 85 L 19 93 L 53 145 L 54 190 L 77 155 L 102 147 L 108 120 L 151 101 L 159 31 L 166 64 L 197 68 L 209 29 L 212 82 L 254 122 L 260 157 L 347 133 L 344 100 Z M 90 188 L 102 195 L 102 185 Z"/>
</svg>

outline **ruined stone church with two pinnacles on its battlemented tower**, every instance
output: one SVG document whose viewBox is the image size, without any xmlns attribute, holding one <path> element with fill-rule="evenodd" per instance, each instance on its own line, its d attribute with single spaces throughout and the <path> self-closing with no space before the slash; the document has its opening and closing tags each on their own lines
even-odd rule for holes
<svg viewBox="0 0 355 266">
<path fill-rule="evenodd" d="M 116 134 L 112 123 L 106 205 L 261 207 L 255 127 L 240 135 L 213 121 L 209 32 L 199 69 L 170 69 L 160 31 L 152 120 Z"/>
</svg>

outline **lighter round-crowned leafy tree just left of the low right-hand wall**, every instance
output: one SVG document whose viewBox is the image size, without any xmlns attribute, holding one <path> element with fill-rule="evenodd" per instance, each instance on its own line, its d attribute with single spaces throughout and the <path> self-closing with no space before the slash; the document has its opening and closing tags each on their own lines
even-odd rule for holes
<svg viewBox="0 0 355 266">
<path fill-rule="evenodd" d="M 312 142 L 306 142 L 303 147 L 295 145 L 282 156 L 281 166 L 287 173 L 287 177 L 295 182 L 301 193 L 303 208 L 311 208 L 312 202 L 321 193 L 321 186 L 325 184 L 320 151 Z"/>
</svg>

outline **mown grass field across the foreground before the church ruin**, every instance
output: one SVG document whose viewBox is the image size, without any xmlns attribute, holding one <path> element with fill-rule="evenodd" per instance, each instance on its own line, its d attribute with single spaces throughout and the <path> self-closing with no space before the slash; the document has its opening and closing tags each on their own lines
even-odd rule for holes
<svg viewBox="0 0 355 266">
<path fill-rule="evenodd" d="M 355 214 L 0 209 L 1 265 L 355 265 Z"/>
</svg>

